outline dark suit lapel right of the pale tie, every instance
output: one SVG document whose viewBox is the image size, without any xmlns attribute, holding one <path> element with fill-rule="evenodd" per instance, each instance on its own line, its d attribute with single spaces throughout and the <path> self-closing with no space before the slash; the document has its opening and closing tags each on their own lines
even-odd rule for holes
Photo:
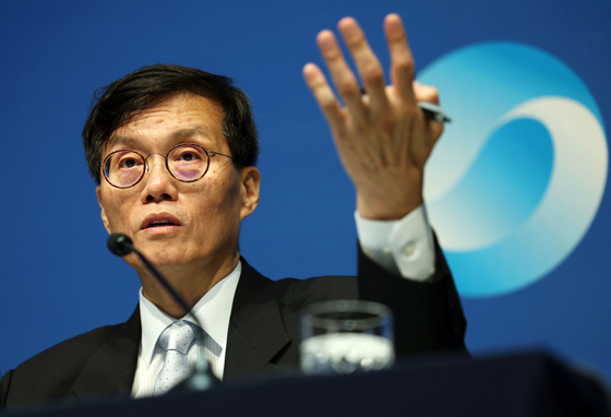
<svg viewBox="0 0 611 417">
<path fill-rule="evenodd" d="M 272 359 L 290 343 L 276 300 L 273 282 L 242 258 L 242 273 L 236 289 L 227 335 L 224 377 L 278 367 Z"/>
</svg>

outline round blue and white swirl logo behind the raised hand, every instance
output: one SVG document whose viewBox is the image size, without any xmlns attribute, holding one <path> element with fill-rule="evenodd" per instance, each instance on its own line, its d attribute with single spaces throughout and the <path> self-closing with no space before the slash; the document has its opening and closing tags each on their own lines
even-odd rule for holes
<svg viewBox="0 0 611 417">
<path fill-rule="evenodd" d="M 418 78 L 435 85 L 446 126 L 424 199 L 458 291 L 507 294 L 579 243 L 600 204 L 608 148 L 600 112 L 563 62 L 516 43 L 451 52 Z"/>
</svg>

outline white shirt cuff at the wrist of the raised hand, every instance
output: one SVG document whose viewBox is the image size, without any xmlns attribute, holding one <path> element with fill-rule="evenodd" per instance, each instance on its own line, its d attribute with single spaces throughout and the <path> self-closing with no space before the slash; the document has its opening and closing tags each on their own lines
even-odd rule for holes
<svg viewBox="0 0 611 417">
<path fill-rule="evenodd" d="M 433 233 L 423 205 L 399 221 L 370 221 L 355 212 L 363 253 L 386 271 L 412 281 L 435 272 Z"/>
</svg>

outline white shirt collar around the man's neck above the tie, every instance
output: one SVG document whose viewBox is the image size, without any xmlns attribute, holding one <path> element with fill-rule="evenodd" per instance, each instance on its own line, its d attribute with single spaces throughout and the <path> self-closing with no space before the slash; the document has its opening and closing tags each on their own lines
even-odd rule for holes
<svg viewBox="0 0 611 417">
<path fill-rule="evenodd" d="M 241 272 L 242 263 L 238 261 L 233 271 L 212 287 L 192 309 L 200 323 L 204 326 L 204 331 L 220 346 L 221 352 L 227 346 L 231 306 L 233 305 L 233 297 Z M 140 288 L 140 319 L 142 322 L 140 348 L 142 358 L 148 367 L 153 360 L 157 339 L 161 332 L 175 322 L 176 319 L 169 317 L 146 299 L 142 288 Z M 183 319 L 193 322 L 190 315 Z"/>
</svg>

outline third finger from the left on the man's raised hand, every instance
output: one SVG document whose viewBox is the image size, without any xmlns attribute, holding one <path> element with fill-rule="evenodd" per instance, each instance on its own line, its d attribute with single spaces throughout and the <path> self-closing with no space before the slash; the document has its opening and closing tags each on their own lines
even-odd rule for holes
<svg viewBox="0 0 611 417">
<path fill-rule="evenodd" d="M 388 107 L 385 92 L 384 70 L 378 57 L 371 50 L 364 33 L 352 17 L 344 17 L 337 24 L 346 46 L 357 65 L 373 110 L 384 110 Z"/>
</svg>

